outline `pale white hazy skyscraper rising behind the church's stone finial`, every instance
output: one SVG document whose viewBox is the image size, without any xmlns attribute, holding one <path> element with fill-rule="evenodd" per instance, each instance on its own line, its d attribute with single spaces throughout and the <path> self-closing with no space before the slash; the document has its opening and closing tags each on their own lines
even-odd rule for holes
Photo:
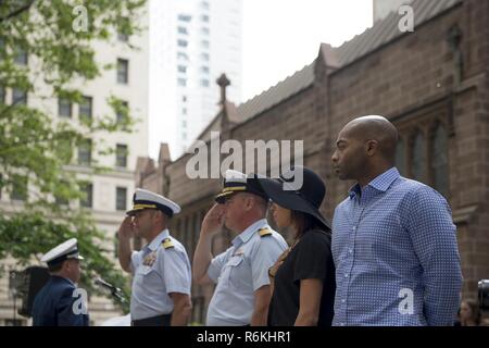
<svg viewBox="0 0 489 348">
<path fill-rule="evenodd" d="M 241 98 L 242 0 L 151 0 L 150 154 L 183 153 L 218 111 L 215 80 Z"/>
</svg>

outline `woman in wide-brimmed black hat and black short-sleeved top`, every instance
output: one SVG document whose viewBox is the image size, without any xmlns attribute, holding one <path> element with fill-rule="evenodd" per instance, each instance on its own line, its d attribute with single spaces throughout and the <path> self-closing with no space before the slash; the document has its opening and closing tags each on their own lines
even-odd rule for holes
<svg viewBox="0 0 489 348">
<path fill-rule="evenodd" d="M 294 189 L 301 182 L 298 175 L 302 175 L 302 185 Z M 294 166 L 277 179 L 256 181 L 273 201 L 277 227 L 290 227 L 294 233 L 291 247 L 268 271 L 273 285 L 268 324 L 329 326 L 336 286 L 330 225 L 319 212 L 324 183 L 303 166 Z"/>
</svg>

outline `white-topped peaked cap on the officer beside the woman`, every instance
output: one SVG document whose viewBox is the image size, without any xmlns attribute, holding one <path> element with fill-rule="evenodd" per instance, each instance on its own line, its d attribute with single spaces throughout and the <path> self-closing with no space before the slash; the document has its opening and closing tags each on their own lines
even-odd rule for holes
<svg viewBox="0 0 489 348">
<path fill-rule="evenodd" d="M 248 177 L 244 173 L 227 170 L 224 176 L 223 190 L 215 197 L 220 204 L 226 202 L 226 197 L 236 192 L 249 192 L 266 198 L 265 192 L 256 181 Z"/>
</svg>

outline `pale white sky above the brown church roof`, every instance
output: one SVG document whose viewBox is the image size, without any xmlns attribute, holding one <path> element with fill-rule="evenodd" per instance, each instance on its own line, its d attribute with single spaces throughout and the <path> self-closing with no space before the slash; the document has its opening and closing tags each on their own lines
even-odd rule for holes
<svg viewBox="0 0 489 348">
<path fill-rule="evenodd" d="M 310 64 L 373 22 L 372 0 L 242 0 L 242 100 Z"/>
</svg>

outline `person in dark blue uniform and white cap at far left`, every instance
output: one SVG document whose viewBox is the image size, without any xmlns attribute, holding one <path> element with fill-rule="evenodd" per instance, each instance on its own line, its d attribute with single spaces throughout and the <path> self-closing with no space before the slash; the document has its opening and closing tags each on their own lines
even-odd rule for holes
<svg viewBox="0 0 489 348">
<path fill-rule="evenodd" d="M 72 238 L 47 252 L 51 274 L 34 300 L 33 326 L 88 326 L 89 316 L 83 290 L 76 283 L 80 277 L 77 240 Z"/>
</svg>

